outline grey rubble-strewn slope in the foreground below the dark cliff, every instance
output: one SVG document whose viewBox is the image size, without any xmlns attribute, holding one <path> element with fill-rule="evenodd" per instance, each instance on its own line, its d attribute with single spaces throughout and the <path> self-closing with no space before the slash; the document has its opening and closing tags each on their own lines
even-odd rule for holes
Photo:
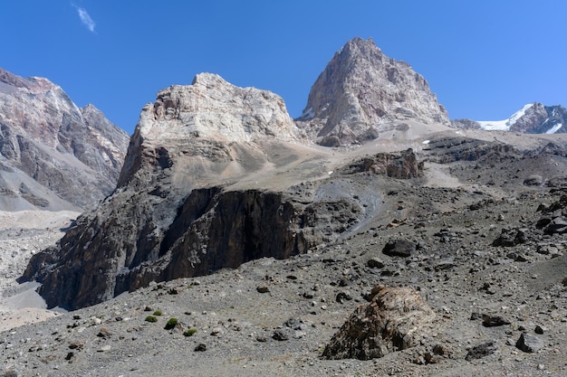
<svg viewBox="0 0 567 377">
<path fill-rule="evenodd" d="M 489 158 L 492 168 L 440 169 L 460 182 L 479 173 L 488 185 L 450 187 L 435 163 L 403 180 L 337 173 L 373 187 L 382 215 L 291 259 L 153 283 L 14 328 L 3 334 L 5 375 L 564 376 L 564 180 L 514 178 L 514 164 L 539 156 Z M 407 310 L 384 311 L 403 307 L 399 299 Z M 369 338 L 371 307 L 390 325 Z M 382 344 L 383 357 L 366 357 L 368 344 Z M 348 349 L 356 352 L 330 360 Z"/>
</svg>

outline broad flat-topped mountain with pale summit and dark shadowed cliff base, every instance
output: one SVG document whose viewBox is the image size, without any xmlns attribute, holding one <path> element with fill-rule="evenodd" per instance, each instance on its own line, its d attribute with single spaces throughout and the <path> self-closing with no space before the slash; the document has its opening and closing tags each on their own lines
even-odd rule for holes
<svg viewBox="0 0 567 377">
<path fill-rule="evenodd" d="M 162 90 L 142 109 L 118 188 L 57 247 L 36 254 L 23 279 L 43 283 L 48 306 L 74 309 L 150 281 L 289 258 L 334 240 L 376 203 L 370 193 L 353 197 L 343 177 L 351 173 L 329 176 L 322 152 L 303 141 L 271 92 L 211 74 Z M 422 169 L 411 151 L 372 162 L 391 176 Z M 317 183 L 302 199 L 295 185 L 306 172 Z"/>
</svg>

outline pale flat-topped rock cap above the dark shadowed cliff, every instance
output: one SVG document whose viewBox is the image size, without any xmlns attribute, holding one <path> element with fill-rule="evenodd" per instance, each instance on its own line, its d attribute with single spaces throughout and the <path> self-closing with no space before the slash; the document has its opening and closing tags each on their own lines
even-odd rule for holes
<svg viewBox="0 0 567 377">
<path fill-rule="evenodd" d="M 139 126 L 146 137 L 250 141 L 299 136 L 281 97 L 268 90 L 236 87 L 212 73 L 198 74 L 191 85 L 159 91 L 156 102 L 144 108 Z"/>
</svg>

